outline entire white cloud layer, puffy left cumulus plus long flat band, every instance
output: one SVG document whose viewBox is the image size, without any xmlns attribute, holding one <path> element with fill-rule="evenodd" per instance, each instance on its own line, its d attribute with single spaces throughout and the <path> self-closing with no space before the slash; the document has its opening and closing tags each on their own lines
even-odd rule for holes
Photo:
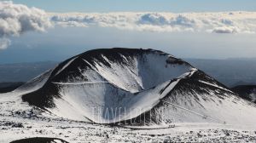
<svg viewBox="0 0 256 143">
<path fill-rule="evenodd" d="M 256 33 L 256 12 L 218 13 L 46 13 L 11 1 L 0 2 L 0 49 L 9 37 L 26 31 L 46 31 L 52 26 L 113 27 L 153 32 Z"/>
</svg>

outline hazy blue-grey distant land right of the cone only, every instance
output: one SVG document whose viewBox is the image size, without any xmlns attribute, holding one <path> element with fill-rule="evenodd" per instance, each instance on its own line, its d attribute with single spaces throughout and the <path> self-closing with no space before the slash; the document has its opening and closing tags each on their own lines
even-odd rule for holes
<svg viewBox="0 0 256 143">
<path fill-rule="evenodd" d="M 246 60 L 185 60 L 230 88 L 237 85 L 256 84 L 256 60 L 253 58 Z"/>
</svg>

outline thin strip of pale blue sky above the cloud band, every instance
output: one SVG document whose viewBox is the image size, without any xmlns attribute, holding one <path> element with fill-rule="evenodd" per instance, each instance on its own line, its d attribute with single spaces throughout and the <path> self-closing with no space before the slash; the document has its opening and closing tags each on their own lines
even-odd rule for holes
<svg viewBox="0 0 256 143">
<path fill-rule="evenodd" d="M 50 12 L 116 12 L 116 11 L 255 11 L 255 0 L 14 0 L 29 7 Z"/>
</svg>

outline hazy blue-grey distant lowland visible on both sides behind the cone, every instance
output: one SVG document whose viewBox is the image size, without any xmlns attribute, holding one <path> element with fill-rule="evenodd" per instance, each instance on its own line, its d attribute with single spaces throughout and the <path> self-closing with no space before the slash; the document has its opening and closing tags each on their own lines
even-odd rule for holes
<svg viewBox="0 0 256 143">
<path fill-rule="evenodd" d="M 185 59 L 228 87 L 256 84 L 256 59 L 203 60 Z M 57 61 L 15 63 L 0 65 L 0 83 L 27 82 L 50 68 Z M 0 84 L 3 87 L 4 84 Z"/>
</svg>

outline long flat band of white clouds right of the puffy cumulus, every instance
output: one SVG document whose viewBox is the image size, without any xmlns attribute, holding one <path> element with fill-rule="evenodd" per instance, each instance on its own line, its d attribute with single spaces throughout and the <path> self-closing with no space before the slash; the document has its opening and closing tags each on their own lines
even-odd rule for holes
<svg viewBox="0 0 256 143">
<path fill-rule="evenodd" d="M 255 33 L 256 12 L 49 14 L 58 26 L 101 26 L 136 31 Z"/>
</svg>

